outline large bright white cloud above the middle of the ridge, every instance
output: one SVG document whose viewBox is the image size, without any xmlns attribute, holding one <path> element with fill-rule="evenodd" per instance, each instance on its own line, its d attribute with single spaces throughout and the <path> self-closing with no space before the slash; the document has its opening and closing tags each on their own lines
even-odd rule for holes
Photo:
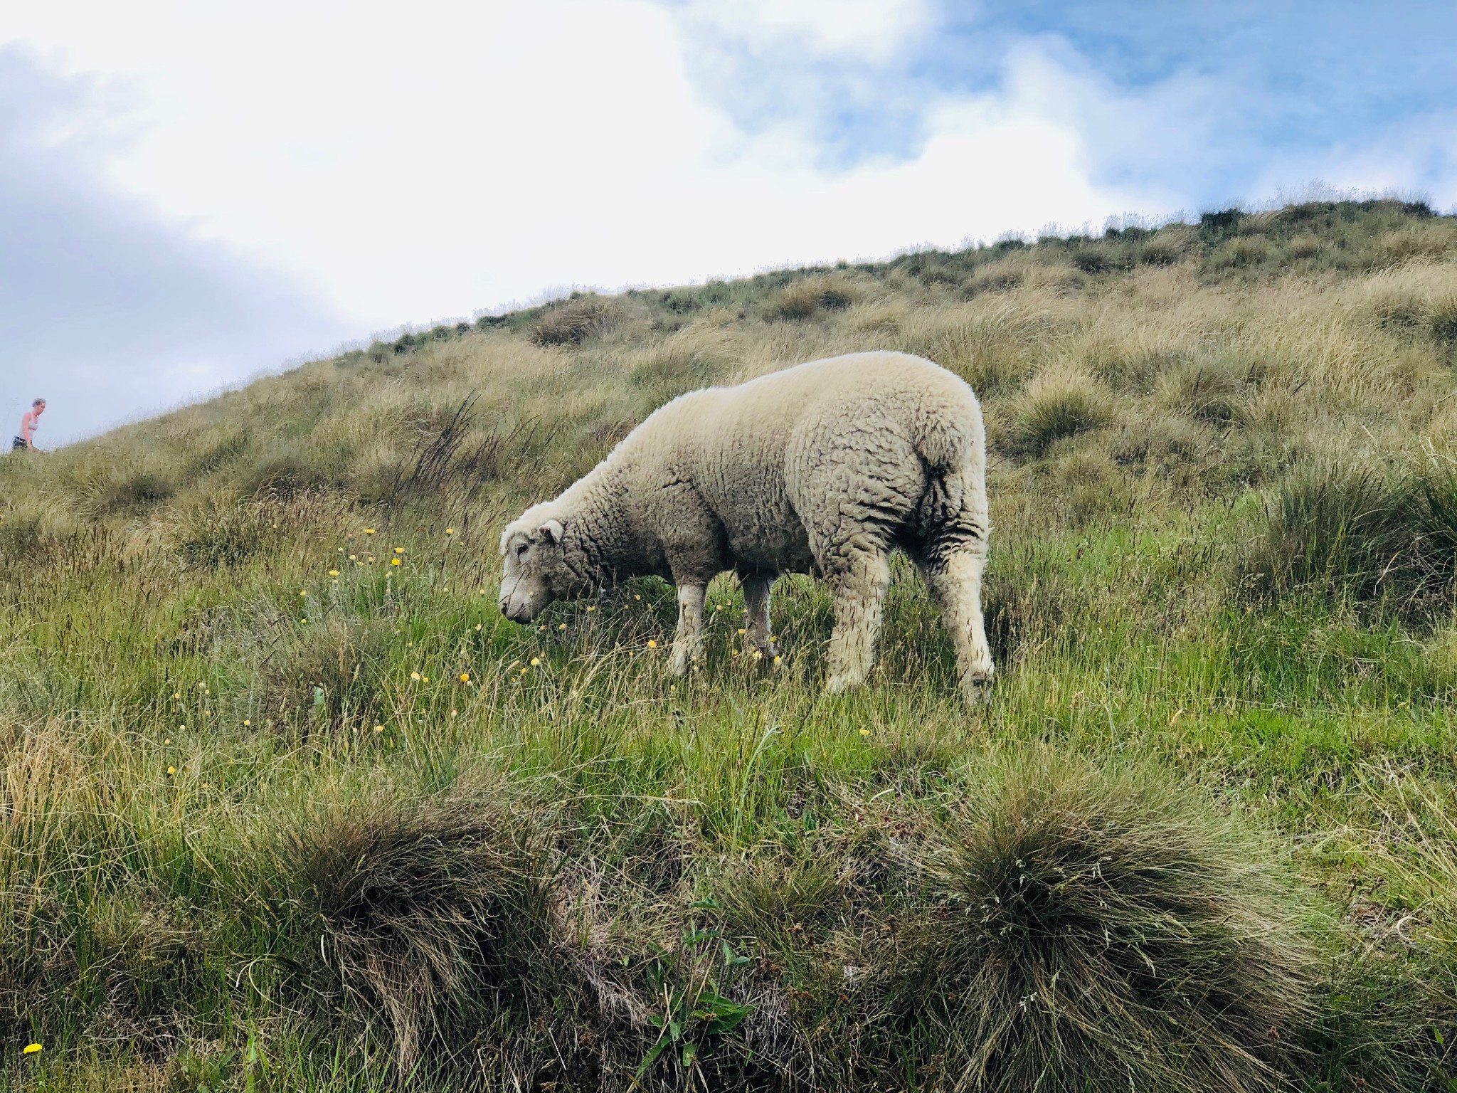
<svg viewBox="0 0 1457 1093">
<path fill-rule="evenodd" d="M 745 0 L 726 17 L 874 55 L 925 12 Z M 548 284 L 881 256 L 1182 203 L 1096 181 L 1110 130 L 1166 122 L 1046 48 L 1014 52 L 995 92 L 927 102 L 914 157 L 822 169 L 807 124 L 750 134 L 702 98 L 696 17 L 632 0 L 63 0 L 12 10 L 0 42 L 117 82 L 134 105 L 115 184 L 318 286 L 361 332 Z"/>
</svg>

